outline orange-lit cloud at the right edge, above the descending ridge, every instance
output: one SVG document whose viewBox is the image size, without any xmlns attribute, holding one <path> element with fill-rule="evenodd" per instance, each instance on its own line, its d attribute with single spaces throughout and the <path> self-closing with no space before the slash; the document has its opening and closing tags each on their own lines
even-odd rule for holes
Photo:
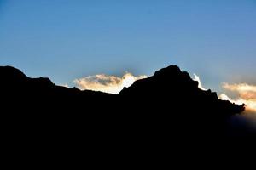
<svg viewBox="0 0 256 170">
<path fill-rule="evenodd" d="M 224 82 L 223 88 L 235 92 L 237 97 L 230 99 L 226 94 L 220 94 L 220 99 L 230 100 L 238 105 L 245 104 L 247 111 L 256 111 L 256 86 L 247 83 L 229 84 Z"/>
</svg>

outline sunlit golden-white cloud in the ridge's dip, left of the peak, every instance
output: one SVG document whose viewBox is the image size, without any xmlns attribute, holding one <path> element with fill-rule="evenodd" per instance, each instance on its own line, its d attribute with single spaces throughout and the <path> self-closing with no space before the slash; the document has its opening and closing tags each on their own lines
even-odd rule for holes
<svg viewBox="0 0 256 170">
<path fill-rule="evenodd" d="M 125 87 L 128 88 L 133 82 L 146 78 L 147 76 L 135 77 L 131 73 L 126 72 L 123 77 L 108 76 L 99 74 L 95 76 L 84 77 L 74 80 L 78 88 L 84 90 L 102 91 L 110 94 L 119 94 Z"/>
</svg>

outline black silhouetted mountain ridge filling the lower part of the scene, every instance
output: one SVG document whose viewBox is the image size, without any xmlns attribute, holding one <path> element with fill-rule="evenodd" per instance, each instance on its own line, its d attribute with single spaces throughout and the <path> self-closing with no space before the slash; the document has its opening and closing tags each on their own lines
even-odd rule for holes
<svg viewBox="0 0 256 170">
<path fill-rule="evenodd" d="M 9 66 L 0 67 L 0 77 L 2 153 L 9 165 L 151 165 L 142 160 L 165 161 L 169 154 L 183 160 L 198 146 L 215 150 L 223 139 L 255 134 L 250 127 L 230 125 L 244 105 L 202 91 L 174 65 L 118 95 L 55 86 Z M 231 138 L 226 144 L 234 142 Z"/>
</svg>

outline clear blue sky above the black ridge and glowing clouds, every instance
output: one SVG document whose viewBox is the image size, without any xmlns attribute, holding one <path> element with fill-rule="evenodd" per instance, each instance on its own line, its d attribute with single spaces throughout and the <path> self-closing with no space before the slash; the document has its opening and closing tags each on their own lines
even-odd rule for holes
<svg viewBox="0 0 256 170">
<path fill-rule="evenodd" d="M 0 65 L 57 84 L 167 65 L 256 83 L 255 0 L 0 0 Z"/>
</svg>

